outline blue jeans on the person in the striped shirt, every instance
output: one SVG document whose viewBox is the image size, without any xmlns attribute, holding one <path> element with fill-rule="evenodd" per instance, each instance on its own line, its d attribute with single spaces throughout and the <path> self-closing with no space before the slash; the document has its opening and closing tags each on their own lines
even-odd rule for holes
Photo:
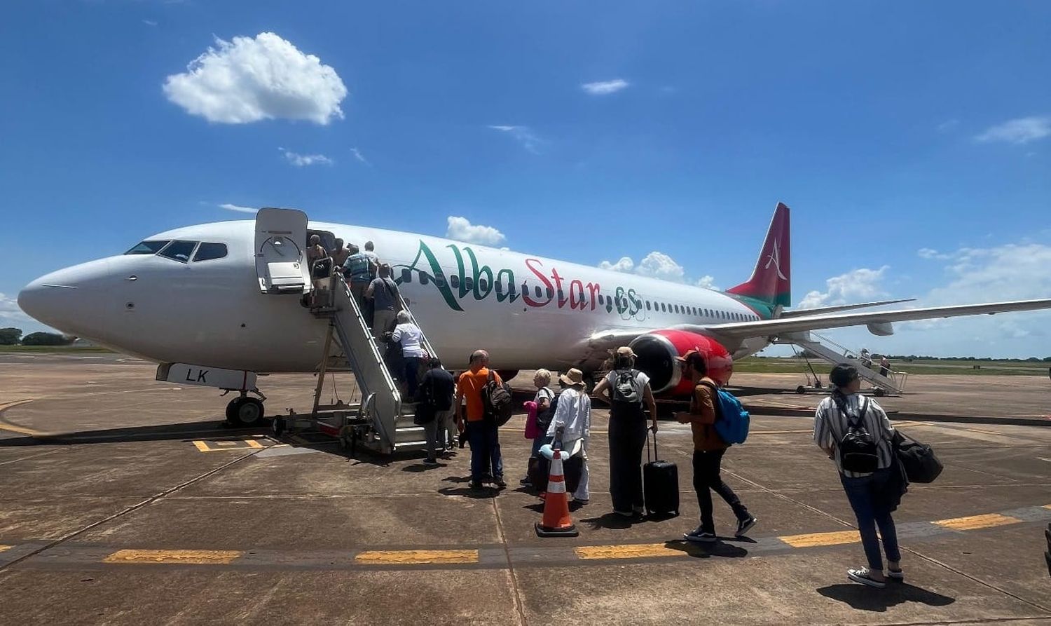
<svg viewBox="0 0 1051 626">
<path fill-rule="evenodd" d="M 883 549 L 887 552 L 887 561 L 901 561 L 902 553 L 898 549 L 898 530 L 890 509 L 886 504 L 888 482 L 891 468 L 878 469 L 869 476 L 847 478 L 840 474 L 843 490 L 847 492 L 850 508 L 858 519 L 858 530 L 861 532 L 861 544 L 865 548 L 869 569 L 883 571 L 883 558 L 880 554 L 880 540 L 875 536 L 875 527 L 880 527 L 883 538 Z"/>
</svg>

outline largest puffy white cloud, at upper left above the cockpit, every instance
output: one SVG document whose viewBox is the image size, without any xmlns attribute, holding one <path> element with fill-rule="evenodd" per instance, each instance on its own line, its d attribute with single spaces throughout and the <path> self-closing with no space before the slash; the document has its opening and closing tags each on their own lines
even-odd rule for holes
<svg viewBox="0 0 1051 626">
<path fill-rule="evenodd" d="M 209 122 L 245 124 L 270 119 L 328 124 L 343 119 L 343 80 L 313 55 L 273 33 L 254 39 L 215 38 L 215 47 L 164 82 L 168 100 Z"/>
</svg>

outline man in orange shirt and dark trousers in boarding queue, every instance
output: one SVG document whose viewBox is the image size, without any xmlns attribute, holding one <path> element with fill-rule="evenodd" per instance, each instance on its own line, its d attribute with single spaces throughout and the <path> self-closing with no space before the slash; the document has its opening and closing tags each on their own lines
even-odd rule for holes
<svg viewBox="0 0 1051 626">
<path fill-rule="evenodd" d="M 493 371 L 493 380 L 502 384 L 500 376 Z M 471 488 L 480 489 L 483 482 L 492 482 L 499 488 L 508 486 L 503 481 L 503 460 L 500 458 L 500 439 L 496 421 L 486 416 L 482 390 L 489 382 L 489 352 L 475 350 L 471 354 L 471 368 L 460 375 L 456 383 L 456 424 L 460 431 L 467 429 L 471 443 Z M 467 400 L 467 421 L 463 420 L 463 400 Z M 492 471 L 490 471 L 492 470 Z"/>
</svg>

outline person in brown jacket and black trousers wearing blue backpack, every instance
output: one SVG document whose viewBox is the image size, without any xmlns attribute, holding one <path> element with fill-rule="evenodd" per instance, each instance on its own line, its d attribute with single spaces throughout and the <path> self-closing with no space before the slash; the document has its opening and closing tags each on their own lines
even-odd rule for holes
<svg viewBox="0 0 1051 626">
<path fill-rule="evenodd" d="M 707 377 L 704 357 L 697 350 L 689 350 L 680 357 L 679 364 L 683 368 L 683 376 L 694 382 L 689 411 L 678 412 L 676 418 L 683 424 L 689 424 L 694 433 L 694 489 L 697 491 L 697 502 L 701 507 L 701 525 L 683 537 L 686 541 L 702 543 L 716 541 L 716 526 L 712 518 L 713 490 L 726 501 L 737 516 L 735 537 L 744 537 L 759 520 L 748 512 L 737 493 L 719 476 L 719 466 L 728 447 L 719 437 L 715 426 L 718 419 L 716 389 L 719 383 Z"/>
</svg>

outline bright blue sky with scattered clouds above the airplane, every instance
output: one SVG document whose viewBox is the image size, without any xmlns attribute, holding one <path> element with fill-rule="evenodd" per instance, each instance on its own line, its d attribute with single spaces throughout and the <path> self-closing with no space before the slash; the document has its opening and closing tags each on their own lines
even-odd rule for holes
<svg viewBox="0 0 1051 626">
<path fill-rule="evenodd" d="M 1036 1 L 7 2 L 0 324 L 38 327 L 13 303 L 36 276 L 244 217 L 222 204 L 461 217 L 728 287 L 783 200 L 796 302 L 1048 297 L 1048 24 Z M 829 335 L 1045 357 L 1049 321 Z"/>
</svg>

